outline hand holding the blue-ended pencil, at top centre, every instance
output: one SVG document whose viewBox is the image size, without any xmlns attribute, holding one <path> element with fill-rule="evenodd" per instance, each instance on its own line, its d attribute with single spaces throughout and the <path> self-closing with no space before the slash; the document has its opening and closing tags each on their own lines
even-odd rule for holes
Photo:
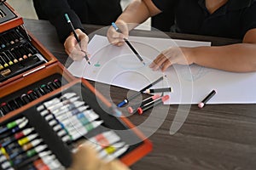
<svg viewBox="0 0 256 170">
<path fill-rule="evenodd" d="M 119 31 L 110 26 L 107 32 L 108 41 L 113 45 L 122 46 L 125 43 L 124 38 L 129 37 L 128 25 L 122 20 L 116 21 L 115 24 L 118 26 Z"/>
</svg>

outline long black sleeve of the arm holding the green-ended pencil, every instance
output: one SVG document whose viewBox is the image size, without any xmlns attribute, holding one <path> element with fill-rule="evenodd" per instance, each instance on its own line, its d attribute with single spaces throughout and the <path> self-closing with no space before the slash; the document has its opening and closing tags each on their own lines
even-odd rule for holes
<svg viewBox="0 0 256 170">
<path fill-rule="evenodd" d="M 61 42 L 65 42 L 66 38 L 71 33 L 71 28 L 67 25 L 64 14 L 68 14 L 75 29 L 79 28 L 84 31 L 79 16 L 70 8 L 67 0 L 33 0 L 33 3 L 36 10 L 38 9 L 37 14 L 39 13 L 39 19 L 41 16 L 41 18 L 49 20 L 49 22 L 55 26 Z M 86 8 L 84 8 L 84 10 L 86 10 Z"/>
</svg>

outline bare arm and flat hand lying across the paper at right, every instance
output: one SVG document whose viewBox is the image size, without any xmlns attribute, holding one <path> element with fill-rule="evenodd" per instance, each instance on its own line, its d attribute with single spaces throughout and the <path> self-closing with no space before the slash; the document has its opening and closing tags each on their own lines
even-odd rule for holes
<svg viewBox="0 0 256 170">
<path fill-rule="evenodd" d="M 256 71 L 256 28 L 247 31 L 242 43 L 198 48 L 169 48 L 150 65 L 166 71 L 172 64 L 197 64 L 224 71 Z"/>
</svg>

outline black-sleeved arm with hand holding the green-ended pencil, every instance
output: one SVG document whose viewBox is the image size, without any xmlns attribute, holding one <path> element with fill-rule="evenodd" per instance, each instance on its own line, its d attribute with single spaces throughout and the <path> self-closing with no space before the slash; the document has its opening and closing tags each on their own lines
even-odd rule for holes
<svg viewBox="0 0 256 170">
<path fill-rule="evenodd" d="M 79 20 L 79 16 L 70 8 L 67 0 L 34 0 L 35 7 L 39 7 L 46 19 L 55 26 L 58 37 L 64 42 L 66 53 L 73 60 L 81 60 L 84 58 L 84 52 L 87 51 L 88 37 L 84 33 L 84 28 Z M 86 8 L 84 9 L 86 10 Z M 73 23 L 73 27 L 79 37 L 80 46 L 73 36 L 71 27 L 67 24 L 64 14 L 68 14 Z M 80 48 L 81 47 L 81 48 Z M 81 50 L 82 49 L 82 50 Z"/>
</svg>

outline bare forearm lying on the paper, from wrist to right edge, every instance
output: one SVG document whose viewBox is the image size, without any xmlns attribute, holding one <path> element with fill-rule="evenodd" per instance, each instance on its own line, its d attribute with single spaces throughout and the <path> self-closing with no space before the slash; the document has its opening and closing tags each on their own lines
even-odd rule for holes
<svg viewBox="0 0 256 170">
<path fill-rule="evenodd" d="M 191 58 L 197 65 L 224 71 L 256 71 L 256 44 L 193 48 Z"/>
</svg>

